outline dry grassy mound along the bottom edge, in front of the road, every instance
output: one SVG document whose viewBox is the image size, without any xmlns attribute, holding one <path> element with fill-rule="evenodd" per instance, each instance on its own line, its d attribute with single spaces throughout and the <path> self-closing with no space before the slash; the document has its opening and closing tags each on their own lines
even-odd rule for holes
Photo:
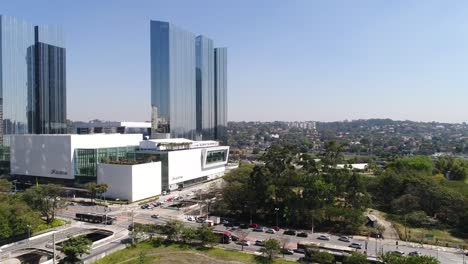
<svg viewBox="0 0 468 264">
<path fill-rule="evenodd" d="M 264 258 L 239 251 L 224 250 L 220 248 L 200 249 L 195 246 L 181 244 L 152 244 L 142 242 L 135 247 L 117 251 L 95 264 L 120 263 L 174 263 L 174 264 L 205 264 L 205 263 L 265 263 Z M 281 258 L 275 259 L 273 264 L 296 263 Z"/>
</svg>

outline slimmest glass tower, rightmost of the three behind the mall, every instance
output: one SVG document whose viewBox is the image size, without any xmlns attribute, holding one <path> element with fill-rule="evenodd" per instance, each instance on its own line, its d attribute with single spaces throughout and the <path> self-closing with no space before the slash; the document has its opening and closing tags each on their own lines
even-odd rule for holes
<svg viewBox="0 0 468 264">
<path fill-rule="evenodd" d="M 227 48 L 215 48 L 214 69 L 215 134 L 227 144 Z"/>
</svg>

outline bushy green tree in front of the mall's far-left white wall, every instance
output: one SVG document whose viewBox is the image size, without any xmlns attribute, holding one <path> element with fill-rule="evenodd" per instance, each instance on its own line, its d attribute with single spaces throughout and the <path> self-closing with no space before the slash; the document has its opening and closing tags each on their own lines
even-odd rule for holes
<svg viewBox="0 0 468 264">
<path fill-rule="evenodd" d="M 39 185 L 27 189 L 23 199 L 33 209 L 38 210 L 50 224 L 55 219 L 56 211 L 65 207 L 65 201 L 60 198 L 62 192 L 59 185 Z"/>
</svg>

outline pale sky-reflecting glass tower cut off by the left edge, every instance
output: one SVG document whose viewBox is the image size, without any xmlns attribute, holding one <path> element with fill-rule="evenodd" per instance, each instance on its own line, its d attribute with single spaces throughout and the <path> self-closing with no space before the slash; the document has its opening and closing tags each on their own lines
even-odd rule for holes
<svg viewBox="0 0 468 264">
<path fill-rule="evenodd" d="M 0 141 L 10 145 L 12 134 L 28 132 L 27 110 L 34 85 L 34 26 L 15 17 L 0 16 Z"/>
</svg>

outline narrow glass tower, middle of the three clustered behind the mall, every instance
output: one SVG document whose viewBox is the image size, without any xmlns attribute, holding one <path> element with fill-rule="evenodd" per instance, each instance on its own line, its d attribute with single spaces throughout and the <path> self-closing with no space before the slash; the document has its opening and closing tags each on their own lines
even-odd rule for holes
<svg viewBox="0 0 468 264">
<path fill-rule="evenodd" d="M 213 140 L 216 138 L 213 41 L 198 36 L 195 45 L 197 133 L 203 140 Z"/>
</svg>

